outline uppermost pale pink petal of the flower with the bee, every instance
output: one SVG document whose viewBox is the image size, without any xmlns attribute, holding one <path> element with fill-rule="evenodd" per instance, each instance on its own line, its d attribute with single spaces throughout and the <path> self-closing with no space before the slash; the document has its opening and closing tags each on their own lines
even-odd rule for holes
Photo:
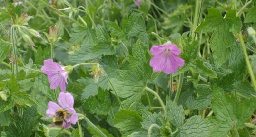
<svg viewBox="0 0 256 137">
<path fill-rule="evenodd" d="M 58 98 L 59 105 L 62 108 L 73 108 L 74 105 L 74 98 L 70 93 L 59 93 L 59 98 Z"/>
</svg>

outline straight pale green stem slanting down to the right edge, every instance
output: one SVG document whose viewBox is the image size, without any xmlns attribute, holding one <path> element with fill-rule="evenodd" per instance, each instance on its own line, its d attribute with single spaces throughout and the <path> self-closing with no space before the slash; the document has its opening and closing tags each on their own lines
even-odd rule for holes
<svg viewBox="0 0 256 137">
<path fill-rule="evenodd" d="M 250 64 L 249 57 L 248 57 L 247 52 L 246 52 L 246 46 L 245 46 L 244 39 L 243 39 L 243 36 L 242 36 L 241 32 L 239 33 L 239 40 L 240 40 L 240 43 L 241 43 L 242 48 L 243 48 L 244 56 L 245 56 L 245 59 L 246 59 L 246 64 L 247 64 L 247 67 L 248 67 L 248 70 L 249 70 L 249 74 L 251 76 L 251 80 L 253 82 L 254 90 L 256 92 L 256 80 L 255 80 L 255 76 L 253 74 L 253 70 L 252 70 L 252 67 L 251 67 L 251 64 Z"/>
</svg>

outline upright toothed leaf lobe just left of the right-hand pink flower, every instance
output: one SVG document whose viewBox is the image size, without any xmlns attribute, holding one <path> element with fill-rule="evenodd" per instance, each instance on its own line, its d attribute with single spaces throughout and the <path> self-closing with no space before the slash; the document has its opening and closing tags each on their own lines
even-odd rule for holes
<svg viewBox="0 0 256 137">
<path fill-rule="evenodd" d="M 140 80 L 146 81 L 152 74 L 152 68 L 148 65 L 150 55 L 147 46 L 140 40 L 132 48 L 132 55 L 129 57 L 129 66 Z"/>
</svg>

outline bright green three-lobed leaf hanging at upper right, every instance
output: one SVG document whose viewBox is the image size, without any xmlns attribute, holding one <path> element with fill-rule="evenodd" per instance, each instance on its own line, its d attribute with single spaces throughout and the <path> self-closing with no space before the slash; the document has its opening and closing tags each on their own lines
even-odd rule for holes
<svg viewBox="0 0 256 137">
<path fill-rule="evenodd" d="M 230 56 L 230 47 L 235 42 L 233 33 L 238 33 L 241 26 L 235 10 L 228 10 L 223 18 L 219 9 L 209 8 L 205 20 L 197 27 L 196 30 L 203 33 L 214 31 L 210 44 L 217 67 L 225 63 Z"/>
</svg>

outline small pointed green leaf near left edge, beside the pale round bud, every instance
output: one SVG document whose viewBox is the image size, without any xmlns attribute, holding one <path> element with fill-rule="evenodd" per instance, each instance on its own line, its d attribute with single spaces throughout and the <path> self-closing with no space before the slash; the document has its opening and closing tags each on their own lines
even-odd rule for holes
<svg viewBox="0 0 256 137">
<path fill-rule="evenodd" d="M 24 91 L 16 91 L 12 93 L 13 100 L 20 105 L 27 105 L 31 107 L 32 105 L 36 105 L 36 102 L 30 98 Z"/>
</svg>

